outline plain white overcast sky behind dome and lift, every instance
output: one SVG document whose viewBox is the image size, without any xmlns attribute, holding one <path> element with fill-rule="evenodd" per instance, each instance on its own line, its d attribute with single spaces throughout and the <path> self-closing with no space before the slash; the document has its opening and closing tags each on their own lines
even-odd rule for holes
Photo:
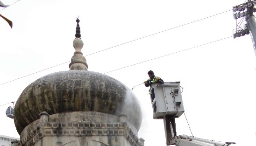
<svg viewBox="0 0 256 146">
<path fill-rule="evenodd" d="M 16 0 L 1 0 L 10 5 Z M 79 15 L 83 54 L 88 70 L 106 73 L 183 49 L 232 36 L 232 11 L 244 0 L 20 0 L 0 11 L 0 84 L 71 60 Z M 90 56 L 88 54 L 107 49 Z M 16 101 L 36 79 L 69 70 L 69 63 L 0 85 L 1 104 Z M 185 114 L 198 138 L 256 145 L 256 56 L 245 35 L 189 49 L 107 73 L 130 89 L 153 70 L 166 82 L 180 81 Z M 134 88 L 142 107 L 139 137 L 145 146 L 166 146 L 163 120 L 154 120 L 149 88 Z M 0 106 L 0 134 L 17 137 L 6 104 Z M 176 119 L 178 134 L 191 135 L 184 114 Z"/>
</svg>

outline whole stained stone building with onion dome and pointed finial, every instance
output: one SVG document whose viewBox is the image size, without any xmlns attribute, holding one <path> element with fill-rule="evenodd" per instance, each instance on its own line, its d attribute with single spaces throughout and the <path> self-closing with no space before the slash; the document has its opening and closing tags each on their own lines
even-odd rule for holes
<svg viewBox="0 0 256 146">
<path fill-rule="evenodd" d="M 137 98 L 113 77 L 87 71 L 78 23 L 70 70 L 37 79 L 18 98 L 13 146 L 144 146 Z"/>
</svg>

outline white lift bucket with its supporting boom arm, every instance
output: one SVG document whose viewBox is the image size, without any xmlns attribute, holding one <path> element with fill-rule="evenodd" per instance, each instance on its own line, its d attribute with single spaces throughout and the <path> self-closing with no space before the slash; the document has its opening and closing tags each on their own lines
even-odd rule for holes
<svg viewBox="0 0 256 146">
<path fill-rule="evenodd" d="M 175 146 L 229 146 L 235 142 L 220 142 L 199 139 L 187 135 L 177 135 L 175 118 L 183 112 L 180 82 L 164 82 L 152 84 L 149 89 L 154 119 L 164 120 L 166 145 Z M 182 88 L 183 89 L 183 88 Z"/>
</svg>

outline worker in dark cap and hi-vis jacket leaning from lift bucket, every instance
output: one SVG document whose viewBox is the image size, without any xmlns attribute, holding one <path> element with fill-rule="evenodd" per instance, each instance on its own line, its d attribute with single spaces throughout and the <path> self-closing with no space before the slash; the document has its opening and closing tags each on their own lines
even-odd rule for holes
<svg viewBox="0 0 256 146">
<path fill-rule="evenodd" d="M 144 82 L 145 86 L 146 87 L 151 87 L 151 85 L 153 83 L 164 83 L 164 80 L 161 79 L 160 77 L 158 76 L 155 76 L 154 75 L 154 72 L 152 70 L 149 70 L 148 72 L 148 75 L 149 75 L 149 79 L 147 81 Z M 149 92 L 150 96 L 151 96 L 151 99 L 152 101 L 155 99 L 155 92 L 154 92 L 154 88 Z"/>
</svg>

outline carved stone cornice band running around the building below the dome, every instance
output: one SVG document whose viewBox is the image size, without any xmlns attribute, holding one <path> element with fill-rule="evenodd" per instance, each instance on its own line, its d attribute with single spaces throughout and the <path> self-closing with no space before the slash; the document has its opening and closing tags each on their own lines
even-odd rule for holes
<svg viewBox="0 0 256 146">
<path fill-rule="evenodd" d="M 84 122 L 41 122 L 16 146 L 33 146 L 45 136 L 123 136 L 131 146 L 144 146 L 126 122 L 84 123 Z"/>
</svg>

